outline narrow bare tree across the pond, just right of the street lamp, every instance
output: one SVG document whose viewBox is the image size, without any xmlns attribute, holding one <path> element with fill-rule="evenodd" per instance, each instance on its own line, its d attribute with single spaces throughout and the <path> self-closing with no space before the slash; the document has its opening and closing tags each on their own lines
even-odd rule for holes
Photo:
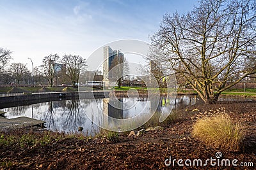
<svg viewBox="0 0 256 170">
<path fill-rule="evenodd" d="M 49 82 L 49 85 L 52 87 L 53 80 L 56 76 L 56 62 L 58 62 L 59 55 L 55 53 L 54 55 L 50 54 L 45 56 L 43 59 L 42 69 L 45 75 L 45 78 Z"/>
</svg>

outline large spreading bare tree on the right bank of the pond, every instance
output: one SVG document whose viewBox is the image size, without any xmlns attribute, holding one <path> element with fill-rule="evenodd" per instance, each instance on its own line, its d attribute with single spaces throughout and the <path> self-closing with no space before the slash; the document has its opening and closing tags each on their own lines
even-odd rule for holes
<svg viewBox="0 0 256 170">
<path fill-rule="evenodd" d="M 255 0 L 206 0 L 186 15 L 166 14 L 150 37 L 162 53 L 156 60 L 172 67 L 205 103 L 216 103 L 221 92 L 256 72 L 255 13 Z"/>
</svg>

